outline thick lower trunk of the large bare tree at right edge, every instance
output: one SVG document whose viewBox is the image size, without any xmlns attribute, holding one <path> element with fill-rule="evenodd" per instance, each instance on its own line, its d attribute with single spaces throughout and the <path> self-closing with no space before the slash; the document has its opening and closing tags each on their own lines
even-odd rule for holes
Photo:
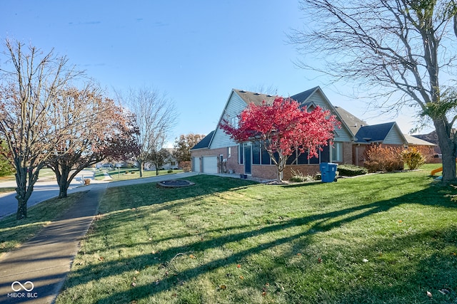
<svg viewBox="0 0 457 304">
<path fill-rule="evenodd" d="M 443 182 L 451 182 L 456 179 L 456 144 L 451 139 L 451 130 L 447 130 L 443 120 L 433 122 L 443 155 Z"/>
</svg>

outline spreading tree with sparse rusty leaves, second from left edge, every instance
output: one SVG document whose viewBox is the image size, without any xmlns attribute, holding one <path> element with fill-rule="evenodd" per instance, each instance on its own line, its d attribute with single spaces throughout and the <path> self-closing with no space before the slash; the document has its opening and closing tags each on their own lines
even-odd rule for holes
<svg viewBox="0 0 457 304">
<path fill-rule="evenodd" d="M 71 181 L 86 167 L 109 157 L 128 158 L 136 152 L 131 120 L 113 100 L 104 97 L 98 85 L 61 90 L 56 107 L 54 117 L 59 128 L 70 126 L 49 162 L 59 184 L 59 198 L 67 196 Z"/>
</svg>

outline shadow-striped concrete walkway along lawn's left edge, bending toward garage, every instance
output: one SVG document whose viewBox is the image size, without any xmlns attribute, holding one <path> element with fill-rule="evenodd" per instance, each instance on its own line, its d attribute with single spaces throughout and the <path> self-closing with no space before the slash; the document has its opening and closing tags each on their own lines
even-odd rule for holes
<svg viewBox="0 0 457 304">
<path fill-rule="evenodd" d="M 0 303 L 53 303 L 108 187 L 181 179 L 194 172 L 91 184 L 65 214 L 0 259 Z"/>
</svg>

